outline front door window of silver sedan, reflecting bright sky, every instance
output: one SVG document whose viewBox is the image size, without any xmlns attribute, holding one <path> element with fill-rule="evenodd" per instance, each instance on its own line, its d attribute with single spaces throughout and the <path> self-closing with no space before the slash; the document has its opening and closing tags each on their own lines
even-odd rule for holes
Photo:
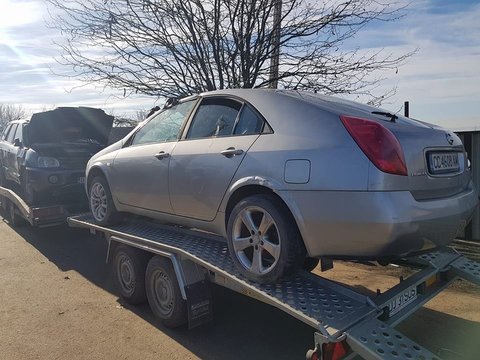
<svg viewBox="0 0 480 360">
<path fill-rule="evenodd" d="M 131 145 L 176 141 L 194 105 L 190 100 L 163 110 L 134 135 Z"/>
</svg>

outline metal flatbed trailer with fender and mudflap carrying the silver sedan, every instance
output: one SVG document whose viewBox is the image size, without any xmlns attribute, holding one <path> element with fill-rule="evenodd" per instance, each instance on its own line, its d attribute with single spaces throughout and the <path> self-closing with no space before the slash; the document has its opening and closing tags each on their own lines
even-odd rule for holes
<svg viewBox="0 0 480 360">
<path fill-rule="evenodd" d="M 439 359 L 394 326 L 457 278 L 480 285 L 480 263 L 450 248 L 402 260 L 400 265 L 417 271 L 375 297 L 304 270 L 279 283 L 263 285 L 238 272 L 225 240 L 218 236 L 138 219 L 99 226 L 89 214 L 70 217 L 68 223 L 104 235 L 108 242 L 107 262 L 113 259 L 116 276 L 127 284 L 133 280 L 137 285 L 150 286 L 143 283 L 145 274 L 135 267 L 138 258 L 132 256 L 125 261 L 125 257 L 115 256 L 115 249 L 127 247 L 135 249 L 138 257 L 149 254 L 169 259 L 172 273 L 167 273 L 167 278 L 178 288 L 172 284 L 167 288 L 177 289 L 177 295 L 185 301 L 190 327 L 212 318 L 210 283 L 272 305 L 310 325 L 315 329 L 314 348 L 307 352 L 307 359 L 350 359 L 357 355 L 365 359 Z M 133 274 L 135 271 L 137 274 Z"/>
</svg>

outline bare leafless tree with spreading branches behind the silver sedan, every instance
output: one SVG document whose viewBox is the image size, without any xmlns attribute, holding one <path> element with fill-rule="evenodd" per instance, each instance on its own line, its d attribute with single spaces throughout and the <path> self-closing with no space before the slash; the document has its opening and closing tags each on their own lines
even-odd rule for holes
<svg viewBox="0 0 480 360">
<path fill-rule="evenodd" d="M 273 81 L 372 96 L 382 80 L 372 73 L 395 69 L 411 55 L 342 47 L 370 22 L 398 20 L 398 4 L 283 0 L 278 26 L 278 1 L 48 0 L 50 25 L 65 36 L 57 60 L 73 67 L 67 76 L 124 95 L 184 96 Z M 275 54 L 278 75 L 271 77 Z"/>
</svg>

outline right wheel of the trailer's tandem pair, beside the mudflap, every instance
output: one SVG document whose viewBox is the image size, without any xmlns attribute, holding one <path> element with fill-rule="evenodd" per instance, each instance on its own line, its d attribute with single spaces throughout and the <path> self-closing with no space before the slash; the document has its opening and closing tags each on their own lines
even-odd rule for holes
<svg viewBox="0 0 480 360">
<path fill-rule="evenodd" d="M 161 256 L 150 259 L 145 273 L 145 289 L 150 308 L 163 325 L 177 328 L 188 322 L 187 302 L 182 298 L 169 259 Z"/>
</svg>

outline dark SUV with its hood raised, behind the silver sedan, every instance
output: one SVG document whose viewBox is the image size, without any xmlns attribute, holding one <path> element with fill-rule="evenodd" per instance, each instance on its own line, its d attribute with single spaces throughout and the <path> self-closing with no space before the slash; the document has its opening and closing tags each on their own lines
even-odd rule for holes
<svg viewBox="0 0 480 360">
<path fill-rule="evenodd" d="M 63 107 L 11 122 L 0 140 L 0 186 L 29 205 L 86 204 L 85 166 L 103 149 L 113 116 Z"/>
</svg>

